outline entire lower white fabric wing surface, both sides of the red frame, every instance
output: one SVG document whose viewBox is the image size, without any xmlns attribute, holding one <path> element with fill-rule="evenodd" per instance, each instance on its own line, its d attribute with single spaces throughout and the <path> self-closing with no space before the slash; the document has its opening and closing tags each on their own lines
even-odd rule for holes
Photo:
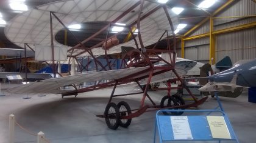
<svg viewBox="0 0 256 143">
<path fill-rule="evenodd" d="M 183 67 L 177 66 L 176 68 L 179 76 L 183 76 L 187 73 L 187 69 Z M 46 79 L 43 81 L 31 82 L 29 84 L 20 85 L 18 87 L 9 88 L 7 92 L 16 93 L 16 94 L 58 94 L 66 92 L 67 90 L 60 90 L 60 87 L 72 84 L 79 84 L 82 82 L 94 82 L 94 81 L 102 81 L 102 80 L 118 80 L 121 78 L 126 78 L 129 75 L 133 75 L 135 73 L 143 73 L 138 74 L 137 76 L 133 76 L 135 81 L 136 78 L 141 78 L 149 74 L 151 70 L 150 67 L 139 67 L 139 68 L 126 68 L 121 70 L 108 70 L 108 71 L 91 71 L 87 73 L 82 73 L 79 75 L 73 76 L 65 76 L 61 78 L 52 78 Z M 154 73 L 160 70 L 154 70 Z M 155 75 L 151 79 L 151 83 L 166 81 L 168 79 L 176 78 L 176 75 L 172 71 L 166 71 L 165 73 Z M 133 80 L 129 79 L 129 80 Z M 125 80 L 125 79 L 124 79 Z M 127 79 L 128 80 L 128 79 Z M 141 84 L 146 84 L 148 78 L 144 78 L 140 80 Z"/>
</svg>

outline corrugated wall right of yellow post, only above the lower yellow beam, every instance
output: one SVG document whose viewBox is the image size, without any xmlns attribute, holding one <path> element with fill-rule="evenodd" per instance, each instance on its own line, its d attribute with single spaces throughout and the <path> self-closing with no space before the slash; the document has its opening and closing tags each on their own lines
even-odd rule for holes
<svg viewBox="0 0 256 143">
<path fill-rule="evenodd" d="M 240 0 L 233 4 L 230 8 L 227 8 L 224 12 L 216 15 L 215 17 L 226 17 L 226 16 L 245 16 L 245 15 L 256 15 L 256 3 L 252 0 Z M 235 27 L 241 24 L 248 24 L 255 22 L 254 18 L 222 18 L 214 19 L 215 30 L 220 30 L 229 27 Z"/>
</svg>

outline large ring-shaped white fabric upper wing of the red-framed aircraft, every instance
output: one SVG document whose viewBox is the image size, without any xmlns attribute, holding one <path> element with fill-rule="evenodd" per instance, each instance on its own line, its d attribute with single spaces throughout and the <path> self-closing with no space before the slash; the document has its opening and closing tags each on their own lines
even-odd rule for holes
<svg viewBox="0 0 256 143">
<path fill-rule="evenodd" d="M 43 45 L 46 47 L 51 45 L 50 12 L 55 12 L 55 15 L 65 25 L 101 21 L 111 22 L 137 2 L 138 0 L 69 0 L 51 2 L 15 16 L 15 18 L 11 19 L 9 24 L 6 25 L 5 35 L 10 41 L 20 47 L 24 47 L 24 43 L 29 44 L 31 48 L 35 48 L 35 45 Z M 159 4 L 145 1 L 143 14 L 150 12 L 155 7 L 158 7 L 158 5 Z M 136 13 L 139 8 L 140 7 L 137 6 L 133 9 L 135 13 L 127 13 L 127 15 L 124 15 L 116 22 L 125 23 L 126 25 L 132 24 L 137 20 L 138 15 Z M 168 10 L 168 12 L 174 27 L 176 27 L 176 25 L 179 24 L 179 18 L 171 10 Z M 52 18 L 52 25 L 54 35 L 57 35 L 57 33 L 63 29 L 63 26 L 55 18 Z M 141 21 L 140 32 L 143 37 L 143 44 L 145 46 L 154 44 L 165 30 L 170 31 L 171 28 L 163 8 L 159 8 L 156 12 L 152 13 L 152 15 Z M 134 45 L 134 41 L 122 44 L 122 46 Z M 54 40 L 54 46 L 63 45 Z M 107 53 L 120 53 L 120 47 L 121 45 L 117 45 L 116 47 L 110 48 Z M 84 50 L 76 49 L 73 55 L 77 55 L 83 51 Z M 93 53 L 94 55 L 102 55 L 105 54 L 105 51 L 102 50 L 102 48 L 96 47 L 93 48 Z M 69 54 L 71 54 L 71 52 L 69 52 Z M 87 55 L 87 53 L 84 53 L 83 56 L 85 55 Z"/>
</svg>

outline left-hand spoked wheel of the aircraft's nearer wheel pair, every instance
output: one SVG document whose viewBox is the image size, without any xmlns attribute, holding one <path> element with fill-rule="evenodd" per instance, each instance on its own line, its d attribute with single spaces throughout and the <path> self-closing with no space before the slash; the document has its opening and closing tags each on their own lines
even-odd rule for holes
<svg viewBox="0 0 256 143">
<path fill-rule="evenodd" d="M 120 124 L 120 113 L 118 106 L 113 102 L 108 103 L 107 107 L 105 108 L 104 115 L 108 128 L 116 130 Z"/>
</svg>

